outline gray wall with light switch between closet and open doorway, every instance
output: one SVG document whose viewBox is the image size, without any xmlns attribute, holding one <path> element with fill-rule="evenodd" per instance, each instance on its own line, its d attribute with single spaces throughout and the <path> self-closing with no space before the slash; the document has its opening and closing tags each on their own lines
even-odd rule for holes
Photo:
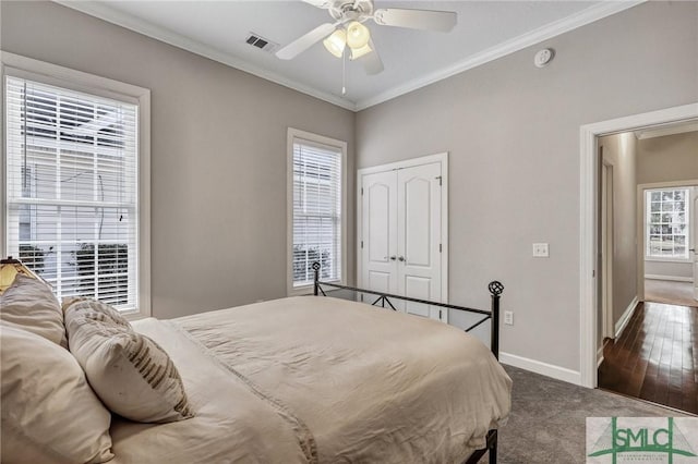
<svg viewBox="0 0 698 464">
<path fill-rule="evenodd" d="M 698 101 L 697 19 L 647 2 L 358 114 L 359 168 L 450 152 L 449 300 L 502 280 L 503 352 L 579 369 L 579 126 Z"/>
</svg>

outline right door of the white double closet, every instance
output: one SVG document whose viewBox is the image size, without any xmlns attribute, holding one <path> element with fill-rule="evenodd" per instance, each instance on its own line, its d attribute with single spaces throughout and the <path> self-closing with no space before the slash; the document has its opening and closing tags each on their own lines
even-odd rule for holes
<svg viewBox="0 0 698 464">
<path fill-rule="evenodd" d="M 441 163 L 397 171 L 398 293 L 441 301 Z M 409 314 L 442 319 L 440 308 L 407 303 Z"/>
</svg>

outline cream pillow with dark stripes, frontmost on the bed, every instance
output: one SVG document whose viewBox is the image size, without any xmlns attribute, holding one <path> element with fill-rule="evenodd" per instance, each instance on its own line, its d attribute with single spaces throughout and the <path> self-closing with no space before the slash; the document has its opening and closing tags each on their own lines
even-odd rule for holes
<svg viewBox="0 0 698 464">
<path fill-rule="evenodd" d="M 109 410 L 141 423 L 192 417 L 179 371 L 157 343 L 94 300 L 64 306 L 64 313 L 70 351 Z"/>
</svg>

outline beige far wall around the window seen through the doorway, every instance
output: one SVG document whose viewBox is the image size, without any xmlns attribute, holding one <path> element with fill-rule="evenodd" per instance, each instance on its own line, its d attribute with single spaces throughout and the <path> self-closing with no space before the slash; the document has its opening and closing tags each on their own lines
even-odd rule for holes
<svg viewBox="0 0 698 464">
<path fill-rule="evenodd" d="M 698 132 L 638 141 L 637 154 L 638 184 L 698 180 Z M 693 264 L 646 260 L 645 274 L 693 279 Z"/>
</svg>

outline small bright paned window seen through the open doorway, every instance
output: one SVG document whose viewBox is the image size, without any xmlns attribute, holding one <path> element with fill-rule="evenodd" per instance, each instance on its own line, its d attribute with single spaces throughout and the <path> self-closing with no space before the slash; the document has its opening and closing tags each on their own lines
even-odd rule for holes
<svg viewBox="0 0 698 464">
<path fill-rule="evenodd" d="M 646 257 L 688 259 L 688 188 L 646 191 Z"/>
</svg>

